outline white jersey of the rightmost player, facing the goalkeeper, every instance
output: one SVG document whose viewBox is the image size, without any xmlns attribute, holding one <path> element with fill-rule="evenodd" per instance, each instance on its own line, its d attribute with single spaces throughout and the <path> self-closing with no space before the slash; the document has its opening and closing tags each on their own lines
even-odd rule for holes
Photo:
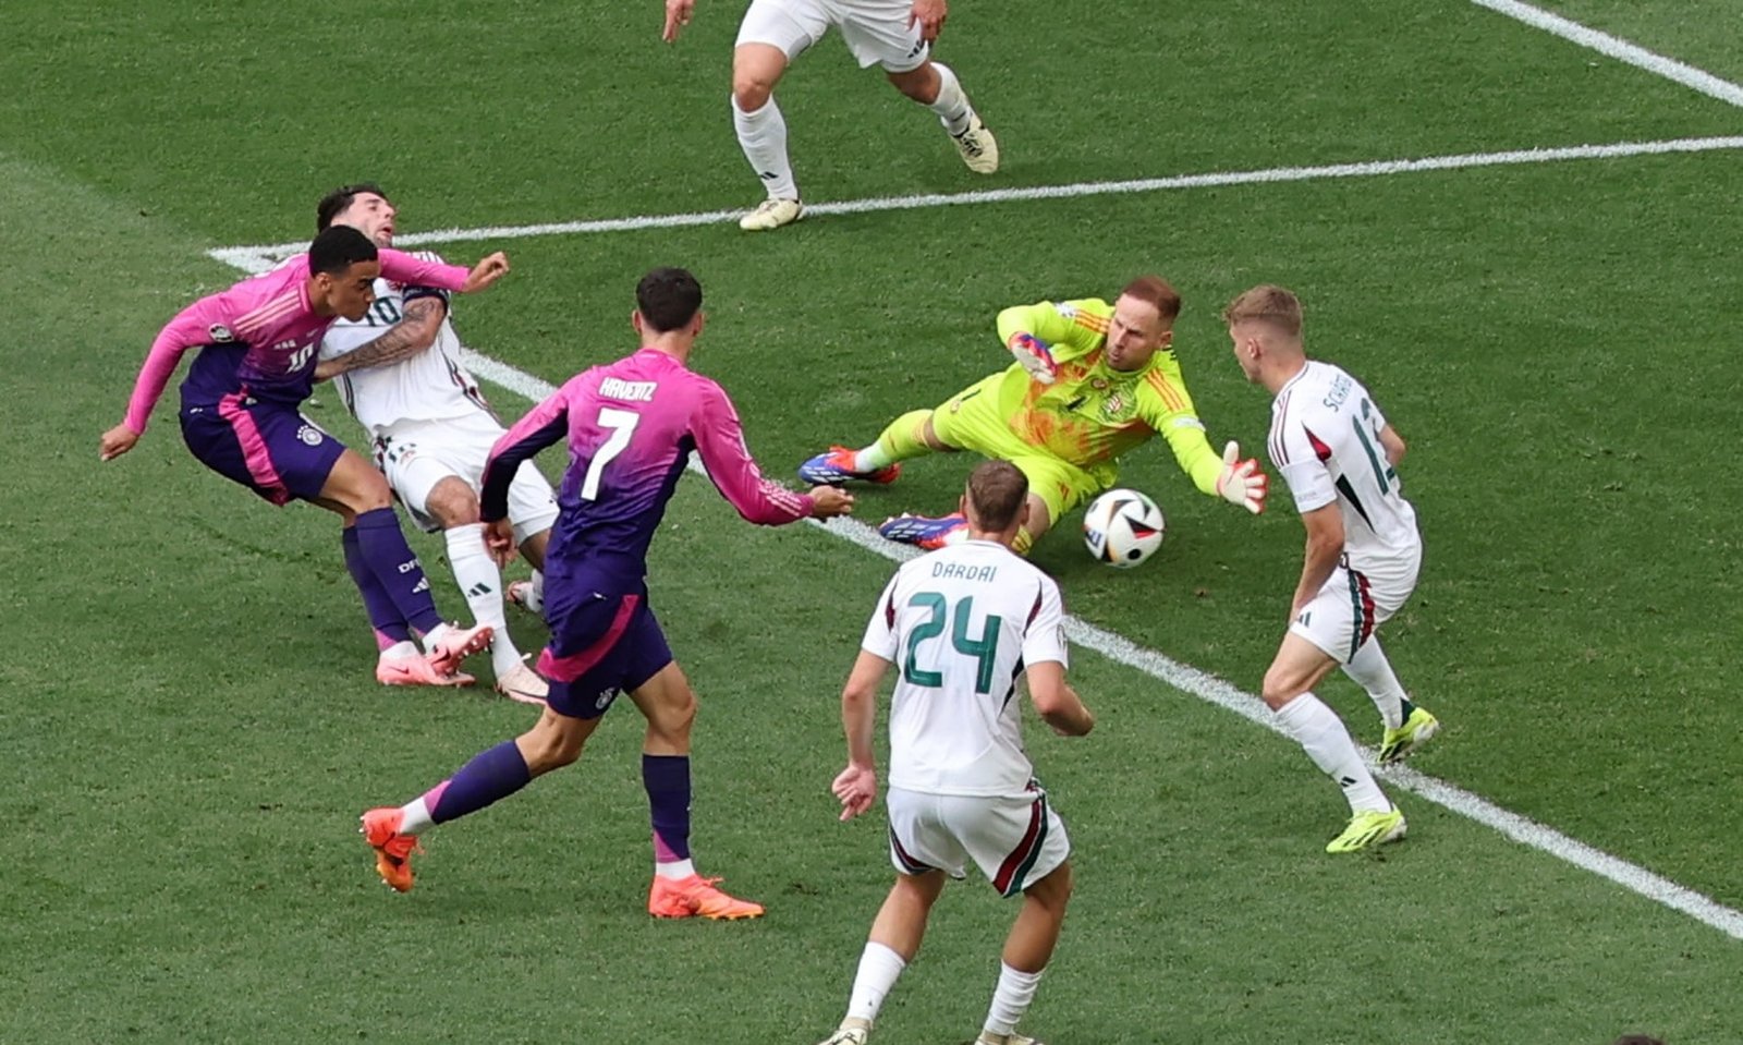
<svg viewBox="0 0 1743 1045">
<path fill-rule="evenodd" d="M 1414 563 L 1422 537 L 1398 473 L 1386 462 L 1386 415 L 1361 382 L 1309 359 L 1271 403 L 1271 464 L 1307 513 L 1333 501 L 1344 516 L 1349 567 L 1387 576 Z M 1414 565 L 1408 567 L 1414 576 Z"/>
</svg>

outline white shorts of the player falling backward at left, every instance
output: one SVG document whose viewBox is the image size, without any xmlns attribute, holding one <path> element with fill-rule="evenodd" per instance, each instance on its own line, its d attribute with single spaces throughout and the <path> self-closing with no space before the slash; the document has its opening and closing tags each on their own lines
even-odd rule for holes
<svg viewBox="0 0 1743 1045">
<path fill-rule="evenodd" d="M 375 464 L 387 476 L 394 495 L 411 513 L 411 520 L 429 534 L 441 525 L 431 518 L 425 502 L 436 483 L 458 476 L 476 492 L 485 482 L 490 448 L 507 431 L 488 413 L 448 420 L 396 424 L 375 440 Z M 521 544 L 556 522 L 556 494 L 532 461 L 521 464 L 509 487 L 509 522 L 514 543 Z"/>
</svg>

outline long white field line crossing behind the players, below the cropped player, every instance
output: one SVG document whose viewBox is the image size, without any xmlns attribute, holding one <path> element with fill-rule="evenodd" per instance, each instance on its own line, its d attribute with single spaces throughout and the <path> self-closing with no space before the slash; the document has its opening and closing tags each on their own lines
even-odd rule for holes
<svg viewBox="0 0 1743 1045">
<path fill-rule="evenodd" d="M 1473 0 L 1482 2 L 1482 0 Z M 1457 171 L 1468 167 L 1501 167 L 1515 164 L 1551 164 L 1563 161 L 1621 159 L 1633 155 L 1663 155 L 1685 152 L 1713 152 L 1743 148 L 1743 136 L 1731 138 L 1675 138 L 1666 141 L 1618 141 L 1614 145 L 1572 145 L 1565 148 L 1522 148 L 1511 152 L 1469 152 L 1459 155 L 1431 155 L 1422 159 L 1372 161 L 1358 164 L 1330 164 L 1318 167 L 1271 167 L 1264 171 L 1217 171 L 1210 174 L 1177 174 L 1173 178 L 1136 178 L 1129 181 L 1077 181 L 1072 185 L 1035 185 L 1028 188 L 988 188 L 981 192 L 953 192 L 927 195 L 880 195 L 840 202 L 809 204 L 810 215 L 866 215 L 875 211 L 913 211 L 924 208 L 973 206 L 990 202 L 1021 202 L 1034 199 L 1077 199 L 1086 195 L 1121 195 L 1133 192 L 1166 192 L 1175 188 L 1211 188 L 1220 185 L 1267 185 L 1279 181 L 1314 181 L 1323 178 L 1377 178 L 1382 174 L 1415 174 L 1424 171 Z M 525 239 L 530 236 L 584 236 L 594 232 L 636 232 L 643 229 L 683 229 L 692 225 L 722 225 L 736 222 L 743 211 L 697 211 L 688 215 L 641 215 L 634 218 L 601 218 L 587 222 L 553 222 L 544 225 L 493 225 L 485 229 L 441 229 L 415 232 L 394 239 L 397 246 L 429 242 L 465 242 Z M 309 242 L 277 242 L 261 246 L 228 246 L 209 251 L 227 265 L 244 272 L 265 272 L 279 260 L 307 249 Z"/>
</svg>

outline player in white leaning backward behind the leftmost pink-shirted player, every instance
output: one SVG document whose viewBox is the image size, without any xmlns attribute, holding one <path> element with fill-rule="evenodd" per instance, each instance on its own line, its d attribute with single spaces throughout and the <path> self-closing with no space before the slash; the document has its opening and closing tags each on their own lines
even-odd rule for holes
<svg viewBox="0 0 1743 1045">
<path fill-rule="evenodd" d="M 394 246 L 397 209 L 378 185 L 347 185 L 315 206 L 315 227 L 350 225 L 376 246 Z M 415 255 L 439 262 L 436 255 Z M 375 304 L 363 319 L 338 319 L 321 338 L 315 379 L 336 379 L 345 408 L 370 433 L 375 461 L 401 504 L 425 532 L 441 532 L 448 567 L 472 618 L 492 628 L 490 659 L 497 693 L 544 703 L 547 687 L 523 663 L 502 611 L 502 570 L 485 548 L 478 487 L 490 447 L 504 427 L 460 365 L 460 338 L 448 316 L 448 291 L 375 281 Z M 514 543 L 535 570 L 556 522 L 556 495 L 532 464 L 509 485 Z M 533 574 L 533 586 L 539 574 Z M 382 651 L 392 659 L 403 649 Z"/>
</svg>

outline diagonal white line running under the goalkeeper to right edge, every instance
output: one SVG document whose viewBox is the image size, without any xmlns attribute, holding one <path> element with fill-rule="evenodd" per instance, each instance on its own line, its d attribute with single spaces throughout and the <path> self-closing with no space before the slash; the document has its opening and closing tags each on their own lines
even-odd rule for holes
<svg viewBox="0 0 1743 1045">
<path fill-rule="evenodd" d="M 492 384 L 505 387 L 511 393 L 525 396 L 535 403 L 556 391 L 556 387 L 546 380 L 516 370 L 507 363 L 492 359 L 490 356 L 478 354 L 471 349 L 465 351 L 464 359 L 467 368 L 478 377 L 483 377 Z M 695 473 L 702 471 L 694 457 L 690 461 L 690 469 Z M 892 544 L 878 537 L 877 530 L 872 527 L 851 518 L 837 518 L 826 523 L 812 520 L 812 525 L 835 537 L 858 544 L 873 555 L 882 555 L 884 558 L 896 562 L 903 562 L 917 555 L 913 548 L 906 544 Z M 1084 649 L 1091 649 L 1112 661 L 1136 668 L 1152 679 L 1180 689 L 1182 693 L 1190 693 L 1199 700 L 1227 708 L 1243 719 L 1271 729 L 1272 733 L 1283 734 L 1262 700 L 1250 693 L 1243 693 L 1215 675 L 1182 665 L 1180 661 L 1152 649 L 1143 649 L 1122 635 L 1116 635 L 1077 618 L 1065 619 L 1065 633 L 1072 642 L 1082 645 Z M 1363 757 L 1370 766 L 1373 766 L 1373 752 L 1363 748 Z M 1302 769 L 1311 771 L 1307 766 Z M 1607 878 L 1628 891 L 1663 904 L 1672 911 L 1680 911 L 1703 925 L 1710 925 L 1733 939 L 1743 940 L 1743 912 L 1724 907 L 1722 904 L 1696 893 L 1694 890 L 1684 888 L 1668 878 L 1652 874 L 1644 867 L 1637 867 L 1602 850 L 1595 850 L 1586 843 L 1555 830 L 1553 827 L 1544 827 L 1543 823 L 1527 820 L 1518 813 L 1509 813 L 1487 799 L 1454 787 L 1443 780 L 1417 773 L 1415 769 L 1394 768 L 1380 769 L 1380 773 L 1393 787 L 1408 790 L 1429 803 L 1434 803 L 1436 806 L 1492 827 L 1520 844 L 1541 850 L 1558 860 L 1572 864 L 1574 867 Z"/>
</svg>

